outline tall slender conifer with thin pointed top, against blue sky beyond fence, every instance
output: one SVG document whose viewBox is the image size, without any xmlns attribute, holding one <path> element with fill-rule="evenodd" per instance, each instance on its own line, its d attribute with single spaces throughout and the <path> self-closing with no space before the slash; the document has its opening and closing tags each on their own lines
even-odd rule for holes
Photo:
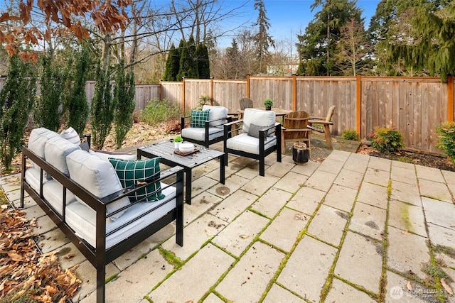
<svg viewBox="0 0 455 303">
<path fill-rule="evenodd" d="M 275 42 L 268 31 L 270 28 L 269 18 L 265 9 L 264 0 L 255 0 L 255 9 L 258 11 L 257 21 L 253 26 L 257 26 L 257 32 L 253 35 L 253 40 L 256 44 L 256 57 L 258 68 L 257 72 L 264 72 L 267 68 L 267 58 L 269 56 L 269 48 L 275 47 Z"/>
</svg>

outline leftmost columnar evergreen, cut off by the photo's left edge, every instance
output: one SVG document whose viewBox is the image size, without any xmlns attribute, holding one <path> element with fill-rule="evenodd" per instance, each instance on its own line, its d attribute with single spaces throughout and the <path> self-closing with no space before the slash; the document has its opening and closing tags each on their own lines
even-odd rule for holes
<svg viewBox="0 0 455 303">
<path fill-rule="evenodd" d="M 36 97 L 36 77 L 30 63 L 10 57 L 8 77 L 0 92 L 0 158 L 9 169 L 21 152 L 23 133 Z"/>
</svg>

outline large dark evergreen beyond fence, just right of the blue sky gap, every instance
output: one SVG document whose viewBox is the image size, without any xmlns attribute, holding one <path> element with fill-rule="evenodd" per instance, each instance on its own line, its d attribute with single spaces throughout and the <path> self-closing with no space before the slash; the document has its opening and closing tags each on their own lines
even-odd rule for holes
<svg viewBox="0 0 455 303">
<path fill-rule="evenodd" d="M 321 7 L 304 35 L 297 35 L 297 48 L 301 61 L 306 61 L 306 75 L 339 75 L 333 70 L 333 55 L 340 40 L 341 28 L 354 20 L 363 23 L 362 11 L 356 6 L 357 0 L 315 0 L 311 11 Z"/>
</svg>

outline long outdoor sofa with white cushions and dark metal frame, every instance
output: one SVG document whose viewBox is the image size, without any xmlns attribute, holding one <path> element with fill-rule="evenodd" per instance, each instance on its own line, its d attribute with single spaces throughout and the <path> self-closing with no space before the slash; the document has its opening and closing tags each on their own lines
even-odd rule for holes
<svg viewBox="0 0 455 303">
<path fill-rule="evenodd" d="M 160 158 L 135 157 L 87 150 L 46 128 L 22 148 L 21 207 L 27 192 L 92 263 L 98 303 L 109 262 L 173 221 L 183 246 L 183 169 L 160 172 Z"/>
</svg>

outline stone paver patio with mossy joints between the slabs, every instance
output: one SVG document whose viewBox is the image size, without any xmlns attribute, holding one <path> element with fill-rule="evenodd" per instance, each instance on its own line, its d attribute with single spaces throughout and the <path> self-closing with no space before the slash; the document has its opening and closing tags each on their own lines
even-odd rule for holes
<svg viewBox="0 0 455 303">
<path fill-rule="evenodd" d="M 440 280 L 455 290 L 455 172 L 341 150 L 275 159 L 259 177 L 230 157 L 225 185 L 218 162 L 195 170 L 184 246 L 167 226 L 110 263 L 107 302 L 455 302 Z M 19 180 L 0 179 L 16 206 Z M 25 211 L 43 252 L 80 264 L 73 302 L 95 302 L 95 268 L 29 198 Z"/>
</svg>

